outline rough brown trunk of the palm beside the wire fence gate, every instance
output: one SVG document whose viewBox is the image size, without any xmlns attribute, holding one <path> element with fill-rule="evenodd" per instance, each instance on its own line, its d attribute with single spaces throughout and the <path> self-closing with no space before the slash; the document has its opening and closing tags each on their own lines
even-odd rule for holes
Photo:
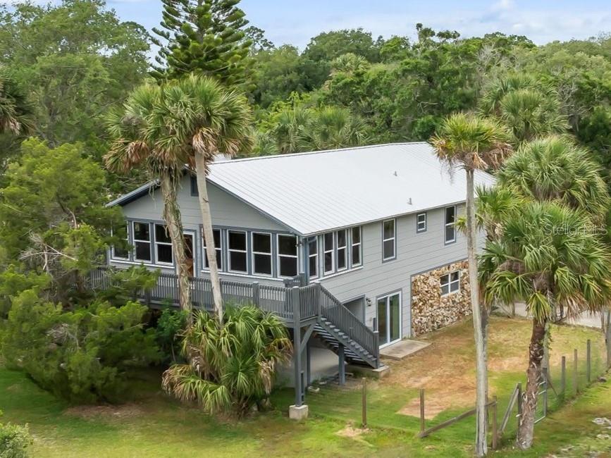
<svg viewBox="0 0 611 458">
<path fill-rule="evenodd" d="M 539 380 L 541 380 L 541 361 L 543 361 L 543 340 L 545 339 L 545 321 L 533 320 L 533 333 L 529 346 L 529 369 L 526 371 L 526 391 L 522 398 L 522 414 L 518 426 L 517 446 L 526 450 L 533 445 L 535 413 Z"/>
</svg>

